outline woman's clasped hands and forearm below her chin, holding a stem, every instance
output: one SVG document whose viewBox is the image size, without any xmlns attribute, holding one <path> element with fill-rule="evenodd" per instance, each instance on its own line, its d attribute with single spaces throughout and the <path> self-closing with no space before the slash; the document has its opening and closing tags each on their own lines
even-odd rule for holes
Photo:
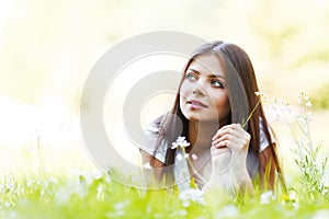
<svg viewBox="0 0 329 219">
<path fill-rule="evenodd" d="M 213 175 L 223 181 L 229 181 L 239 186 L 252 187 L 251 178 L 247 171 L 247 154 L 250 135 L 240 124 L 223 126 L 212 139 Z M 215 182 L 213 182 L 215 183 Z M 219 182 L 218 182 L 219 183 Z"/>
</svg>

